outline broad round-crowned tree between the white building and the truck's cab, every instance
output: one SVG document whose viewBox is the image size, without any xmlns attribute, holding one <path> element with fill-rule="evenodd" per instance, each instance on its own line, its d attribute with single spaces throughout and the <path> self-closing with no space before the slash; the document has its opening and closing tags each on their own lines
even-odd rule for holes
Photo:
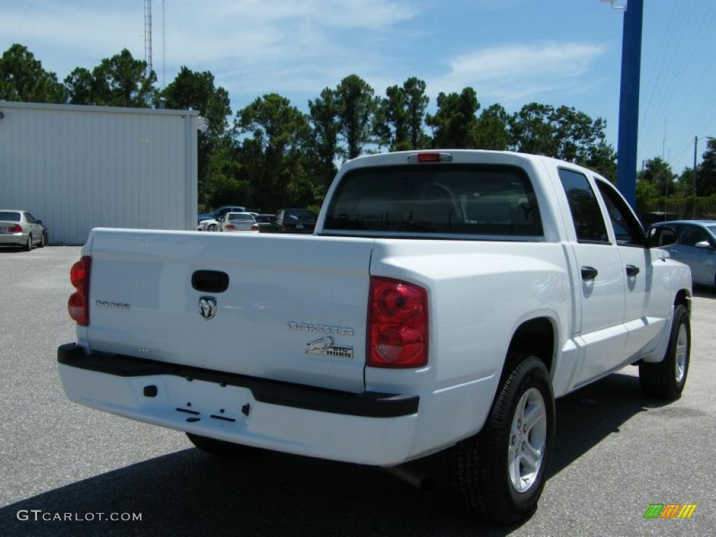
<svg viewBox="0 0 716 537">
<path fill-rule="evenodd" d="M 296 193 L 313 191 L 302 156 L 309 137 L 309 122 L 286 97 L 270 93 L 236 113 L 241 145 L 241 164 L 253 191 L 254 204 L 279 208 L 294 203 Z"/>
</svg>

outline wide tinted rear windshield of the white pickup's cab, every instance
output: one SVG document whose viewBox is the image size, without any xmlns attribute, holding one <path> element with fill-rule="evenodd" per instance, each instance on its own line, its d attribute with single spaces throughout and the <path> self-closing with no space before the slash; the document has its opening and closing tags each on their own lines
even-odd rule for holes
<svg viewBox="0 0 716 537">
<path fill-rule="evenodd" d="M 325 231 L 542 236 L 536 196 L 515 166 L 421 164 L 353 170 Z"/>
</svg>

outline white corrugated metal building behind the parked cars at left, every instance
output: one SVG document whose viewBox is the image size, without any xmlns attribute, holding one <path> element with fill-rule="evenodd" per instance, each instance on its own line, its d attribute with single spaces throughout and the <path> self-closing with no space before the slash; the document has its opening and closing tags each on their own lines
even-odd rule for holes
<svg viewBox="0 0 716 537">
<path fill-rule="evenodd" d="M 95 227 L 195 229 L 198 112 L 0 101 L 0 208 L 49 242 Z"/>
</svg>

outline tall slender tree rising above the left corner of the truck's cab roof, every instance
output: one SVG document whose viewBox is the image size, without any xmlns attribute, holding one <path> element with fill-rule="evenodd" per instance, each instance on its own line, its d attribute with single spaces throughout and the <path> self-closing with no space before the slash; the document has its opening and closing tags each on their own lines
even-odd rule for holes
<svg viewBox="0 0 716 537">
<path fill-rule="evenodd" d="M 336 87 L 335 104 L 339 134 L 346 147 L 344 156 L 356 158 L 372 142 L 373 117 L 377 107 L 373 88 L 357 74 L 350 74 Z"/>
</svg>

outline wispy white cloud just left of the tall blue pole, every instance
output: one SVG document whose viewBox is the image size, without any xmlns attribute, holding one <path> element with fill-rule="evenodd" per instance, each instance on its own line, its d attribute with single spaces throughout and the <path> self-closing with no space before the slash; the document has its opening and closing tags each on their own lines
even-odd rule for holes
<svg viewBox="0 0 716 537">
<path fill-rule="evenodd" d="M 478 49 L 448 63 L 446 74 L 429 82 L 432 92 L 460 92 L 472 86 L 478 96 L 524 100 L 557 88 L 576 87 L 605 49 L 589 43 L 508 44 Z"/>
</svg>

